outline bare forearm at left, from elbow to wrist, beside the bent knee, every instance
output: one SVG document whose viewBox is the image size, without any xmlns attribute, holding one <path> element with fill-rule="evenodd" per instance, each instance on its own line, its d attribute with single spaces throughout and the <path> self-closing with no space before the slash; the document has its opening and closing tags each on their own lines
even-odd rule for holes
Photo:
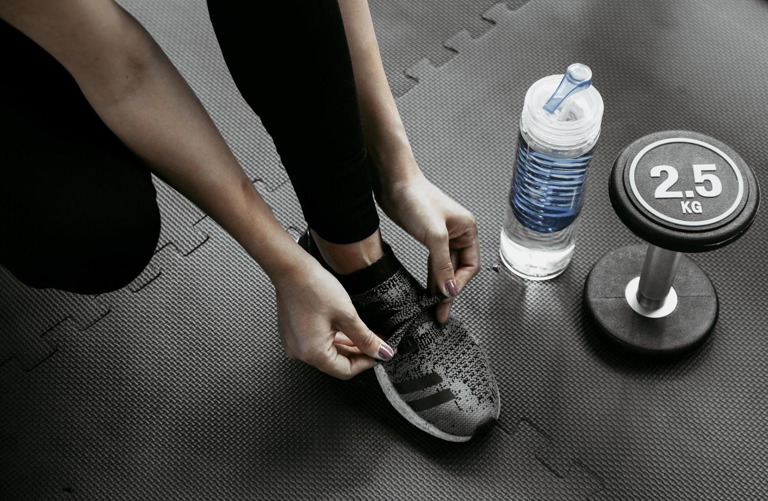
<svg viewBox="0 0 768 501">
<path fill-rule="evenodd" d="M 300 252 L 243 173 L 200 101 L 146 35 L 151 57 L 115 85 L 81 82 L 104 122 L 153 171 L 230 233 L 267 274 L 282 273 Z"/>
</svg>

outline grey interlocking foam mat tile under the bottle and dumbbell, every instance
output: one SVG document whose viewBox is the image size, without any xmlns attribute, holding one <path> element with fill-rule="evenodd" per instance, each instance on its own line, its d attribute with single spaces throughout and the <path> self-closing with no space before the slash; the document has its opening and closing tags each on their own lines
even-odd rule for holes
<svg viewBox="0 0 768 501">
<path fill-rule="evenodd" d="M 637 242 L 607 196 L 612 161 L 634 138 L 703 131 L 765 181 L 768 128 L 751 103 L 768 76 L 768 4 L 536 0 L 485 17 L 495 27 L 447 41 L 458 54 L 445 65 L 410 68 L 419 85 L 398 104 L 422 170 L 478 217 L 486 268 L 455 307 L 489 347 L 502 420 L 552 433 L 553 460 L 541 460 L 561 472 L 560 460 L 578 458 L 604 481 L 604 499 L 765 499 L 765 214 L 735 244 L 694 256 L 717 287 L 720 320 L 685 360 L 644 363 L 607 347 L 585 322 L 581 290 L 605 252 Z M 497 273 L 525 91 L 574 61 L 591 66 L 605 101 L 574 260 L 548 282 Z M 423 263 L 402 233 L 385 234 L 409 267 Z"/>
</svg>

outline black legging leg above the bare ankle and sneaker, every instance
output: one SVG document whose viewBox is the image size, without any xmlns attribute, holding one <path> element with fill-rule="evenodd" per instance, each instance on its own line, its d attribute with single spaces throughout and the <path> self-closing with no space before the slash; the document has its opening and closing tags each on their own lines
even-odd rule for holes
<svg viewBox="0 0 768 501">
<path fill-rule="evenodd" d="M 290 29 L 280 20 L 290 10 Z M 224 61 L 272 139 L 310 227 L 349 244 L 379 227 L 336 0 L 210 0 Z"/>
</svg>

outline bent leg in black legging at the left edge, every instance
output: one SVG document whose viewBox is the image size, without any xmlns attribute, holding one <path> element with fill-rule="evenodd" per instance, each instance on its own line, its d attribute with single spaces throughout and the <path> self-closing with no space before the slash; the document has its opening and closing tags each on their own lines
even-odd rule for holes
<svg viewBox="0 0 768 501">
<path fill-rule="evenodd" d="M 33 287 L 123 287 L 157 244 L 150 172 L 58 61 L 4 22 L 0 43 L 0 264 Z"/>
</svg>

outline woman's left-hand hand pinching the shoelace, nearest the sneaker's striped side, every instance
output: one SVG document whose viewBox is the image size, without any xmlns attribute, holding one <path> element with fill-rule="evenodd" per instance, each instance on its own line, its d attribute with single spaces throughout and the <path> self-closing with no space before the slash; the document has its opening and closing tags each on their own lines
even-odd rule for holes
<svg viewBox="0 0 768 501">
<path fill-rule="evenodd" d="M 339 280 L 309 254 L 273 277 L 273 284 L 280 341 L 288 357 L 346 380 L 394 355 L 360 320 Z"/>
</svg>

